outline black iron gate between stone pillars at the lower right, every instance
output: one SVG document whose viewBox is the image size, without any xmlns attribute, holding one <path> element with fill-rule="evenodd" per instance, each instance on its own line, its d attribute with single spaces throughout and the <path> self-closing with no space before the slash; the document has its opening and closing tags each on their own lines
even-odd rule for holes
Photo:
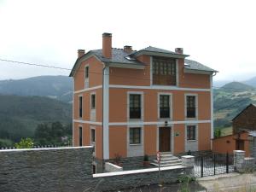
<svg viewBox="0 0 256 192">
<path fill-rule="evenodd" d="M 235 172 L 233 154 L 210 154 L 195 157 L 195 177 Z"/>
</svg>

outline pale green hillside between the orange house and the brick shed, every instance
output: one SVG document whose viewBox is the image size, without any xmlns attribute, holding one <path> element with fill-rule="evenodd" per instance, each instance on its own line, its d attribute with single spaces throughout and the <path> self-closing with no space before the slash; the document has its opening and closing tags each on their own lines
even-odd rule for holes
<svg viewBox="0 0 256 192">
<path fill-rule="evenodd" d="M 231 82 L 214 90 L 214 127 L 230 127 L 231 119 L 250 103 L 256 104 L 256 89 L 240 82 Z"/>
</svg>

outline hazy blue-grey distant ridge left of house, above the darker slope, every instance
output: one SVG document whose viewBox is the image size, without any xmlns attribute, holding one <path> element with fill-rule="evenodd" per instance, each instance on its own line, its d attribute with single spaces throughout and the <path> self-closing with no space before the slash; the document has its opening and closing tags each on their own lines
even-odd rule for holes
<svg viewBox="0 0 256 192">
<path fill-rule="evenodd" d="M 1 95 L 47 96 L 72 102 L 73 82 L 67 76 L 38 76 L 19 80 L 0 80 Z"/>
</svg>

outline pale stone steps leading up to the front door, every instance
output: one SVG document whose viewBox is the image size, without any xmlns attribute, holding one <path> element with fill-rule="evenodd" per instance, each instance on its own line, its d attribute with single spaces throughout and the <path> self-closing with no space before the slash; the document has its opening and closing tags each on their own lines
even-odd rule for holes
<svg viewBox="0 0 256 192">
<path fill-rule="evenodd" d="M 154 160 L 151 165 L 158 166 L 157 160 Z M 160 166 L 180 166 L 182 165 L 182 160 L 173 156 L 171 152 L 161 152 L 160 153 Z"/>
</svg>

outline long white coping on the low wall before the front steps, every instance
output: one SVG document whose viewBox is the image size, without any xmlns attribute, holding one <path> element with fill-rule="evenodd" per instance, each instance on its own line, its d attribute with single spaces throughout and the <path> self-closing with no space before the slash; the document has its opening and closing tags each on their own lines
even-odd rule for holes
<svg viewBox="0 0 256 192">
<path fill-rule="evenodd" d="M 160 167 L 160 171 L 167 171 L 167 170 L 174 170 L 174 169 L 183 169 L 187 166 L 165 166 Z M 138 174 L 143 172 L 158 172 L 159 168 L 149 168 L 149 169 L 137 169 L 131 171 L 123 171 L 123 172 L 104 172 L 104 173 L 96 173 L 93 174 L 92 177 L 111 177 L 111 176 L 118 176 L 118 175 L 130 175 L 130 174 Z"/>
</svg>

